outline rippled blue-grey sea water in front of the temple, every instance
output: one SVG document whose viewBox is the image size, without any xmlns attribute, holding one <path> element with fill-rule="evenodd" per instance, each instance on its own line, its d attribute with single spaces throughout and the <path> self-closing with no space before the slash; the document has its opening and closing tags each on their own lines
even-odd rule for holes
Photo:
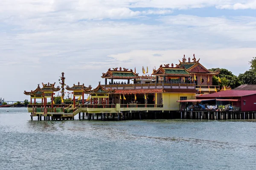
<svg viewBox="0 0 256 170">
<path fill-rule="evenodd" d="M 9 110 L 9 112 L 6 112 Z M 254 170 L 254 120 L 38 121 L 0 108 L 0 170 Z"/>
</svg>

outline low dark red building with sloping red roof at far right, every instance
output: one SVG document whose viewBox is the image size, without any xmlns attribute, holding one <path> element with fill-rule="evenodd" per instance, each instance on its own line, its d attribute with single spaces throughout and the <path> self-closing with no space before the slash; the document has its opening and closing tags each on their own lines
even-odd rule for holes
<svg viewBox="0 0 256 170">
<path fill-rule="evenodd" d="M 216 99 L 216 102 L 224 105 L 238 106 L 240 111 L 256 111 L 256 91 L 219 91 L 217 93 L 196 96 L 196 98 Z"/>
</svg>

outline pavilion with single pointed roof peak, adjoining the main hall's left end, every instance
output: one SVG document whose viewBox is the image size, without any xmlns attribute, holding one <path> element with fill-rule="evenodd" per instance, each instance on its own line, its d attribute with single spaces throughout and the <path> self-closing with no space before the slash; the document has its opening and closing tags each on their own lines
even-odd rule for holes
<svg viewBox="0 0 256 170">
<path fill-rule="evenodd" d="M 102 104 L 102 105 L 109 105 L 109 95 L 114 94 L 115 90 L 114 89 L 105 89 L 102 87 L 102 85 L 99 82 L 99 85 L 94 88 L 92 91 L 88 91 L 87 94 L 90 94 L 90 104 L 92 104 L 92 99 L 93 99 L 93 104 Z M 101 100 L 100 100 L 101 99 Z M 112 103 L 113 104 L 113 103 Z"/>
</svg>

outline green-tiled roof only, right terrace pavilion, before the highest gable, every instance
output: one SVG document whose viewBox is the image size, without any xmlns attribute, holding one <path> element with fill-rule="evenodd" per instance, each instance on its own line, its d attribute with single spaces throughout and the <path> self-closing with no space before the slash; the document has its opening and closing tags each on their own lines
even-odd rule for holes
<svg viewBox="0 0 256 170">
<path fill-rule="evenodd" d="M 173 64 L 172 64 L 173 66 Z M 155 76 L 190 76 L 189 72 L 186 68 L 177 68 L 177 67 L 169 67 L 168 65 L 160 65 L 160 68 L 157 69 L 152 75 Z"/>
</svg>

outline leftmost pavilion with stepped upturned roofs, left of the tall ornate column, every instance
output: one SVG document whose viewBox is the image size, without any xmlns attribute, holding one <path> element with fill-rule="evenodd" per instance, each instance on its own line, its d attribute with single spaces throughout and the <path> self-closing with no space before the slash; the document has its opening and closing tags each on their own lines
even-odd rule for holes
<svg viewBox="0 0 256 170">
<path fill-rule="evenodd" d="M 26 92 L 24 91 L 24 94 L 30 95 L 30 104 L 32 104 L 32 99 L 42 99 L 42 103 L 44 104 L 44 107 L 46 107 L 47 104 L 47 98 L 51 97 L 52 99 L 52 108 L 53 108 L 53 94 L 55 91 L 59 91 L 60 87 L 57 88 L 54 87 L 55 82 L 53 84 L 44 84 L 42 83 L 43 87 L 40 88 L 39 84 L 38 87 L 35 89 L 35 91 Z M 35 100 L 34 100 L 35 103 Z"/>
</svg>

